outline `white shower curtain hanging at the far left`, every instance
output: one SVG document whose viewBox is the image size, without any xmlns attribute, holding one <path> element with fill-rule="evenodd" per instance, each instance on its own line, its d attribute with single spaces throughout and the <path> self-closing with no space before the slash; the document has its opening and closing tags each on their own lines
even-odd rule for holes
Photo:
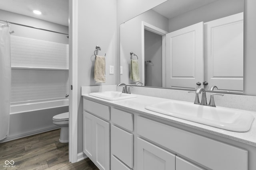
<svg viewBox="0 0 256 170">
<path fill-rule="evenodd" d="M 10 29 L 6 23 L 0 23 L 0 140 L 9 134 L 10 88 Z"/>
</svg>

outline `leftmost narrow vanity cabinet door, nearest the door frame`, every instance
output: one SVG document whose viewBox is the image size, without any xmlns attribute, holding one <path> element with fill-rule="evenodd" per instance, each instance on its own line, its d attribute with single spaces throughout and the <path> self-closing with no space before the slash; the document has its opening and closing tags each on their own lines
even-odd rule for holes
<svg viewBox="0 0 256 170">
<path fill-rule="evenodd" d="M 84 111 L 83 113 L 83 151 L 91 160 L 94 157 L 94 121 L 93 115 Z"/>
</svg>

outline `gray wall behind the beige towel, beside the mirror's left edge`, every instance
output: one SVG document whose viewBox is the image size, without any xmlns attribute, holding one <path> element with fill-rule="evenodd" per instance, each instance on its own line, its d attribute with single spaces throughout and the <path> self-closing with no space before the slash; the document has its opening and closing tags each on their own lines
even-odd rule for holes
<svg viewBox="0 0 256 170">
<path fill-rule="evenodd" d="M 116 84 L 116 72 L 109 74 L 109 66 L 116 68 L 116 0 L 78 0 L 78 153 L 82 152 L 81 86 Z M 94 83 L 94 50 L 106 53 L 106 83 Z"/>
</svg>

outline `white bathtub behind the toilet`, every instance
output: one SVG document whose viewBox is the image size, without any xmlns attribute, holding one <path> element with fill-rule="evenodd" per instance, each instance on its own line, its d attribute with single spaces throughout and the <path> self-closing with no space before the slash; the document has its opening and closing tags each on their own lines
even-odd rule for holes
<svg viewBox="0 0 256 170">
<path fill-rule="evenodd" d="M 52 117 L 64 112 L 68 112 L 68 98 L 13 102 L 10 105 L 9 136 L 0 143 L 58 129 L 52 123 Z"/>
</svg>

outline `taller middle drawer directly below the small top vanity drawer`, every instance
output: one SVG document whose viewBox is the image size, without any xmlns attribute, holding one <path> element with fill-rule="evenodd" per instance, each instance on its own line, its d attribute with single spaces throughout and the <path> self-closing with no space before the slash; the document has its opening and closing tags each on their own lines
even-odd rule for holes
<svg viewBox="0 0 256 170">
<path fill-rule="evenodd" d="M 112 154 L 124 162 L 130 168 L 133 167 L 133 134 L 119 127 L 111 126 Z"/>
</svg>

